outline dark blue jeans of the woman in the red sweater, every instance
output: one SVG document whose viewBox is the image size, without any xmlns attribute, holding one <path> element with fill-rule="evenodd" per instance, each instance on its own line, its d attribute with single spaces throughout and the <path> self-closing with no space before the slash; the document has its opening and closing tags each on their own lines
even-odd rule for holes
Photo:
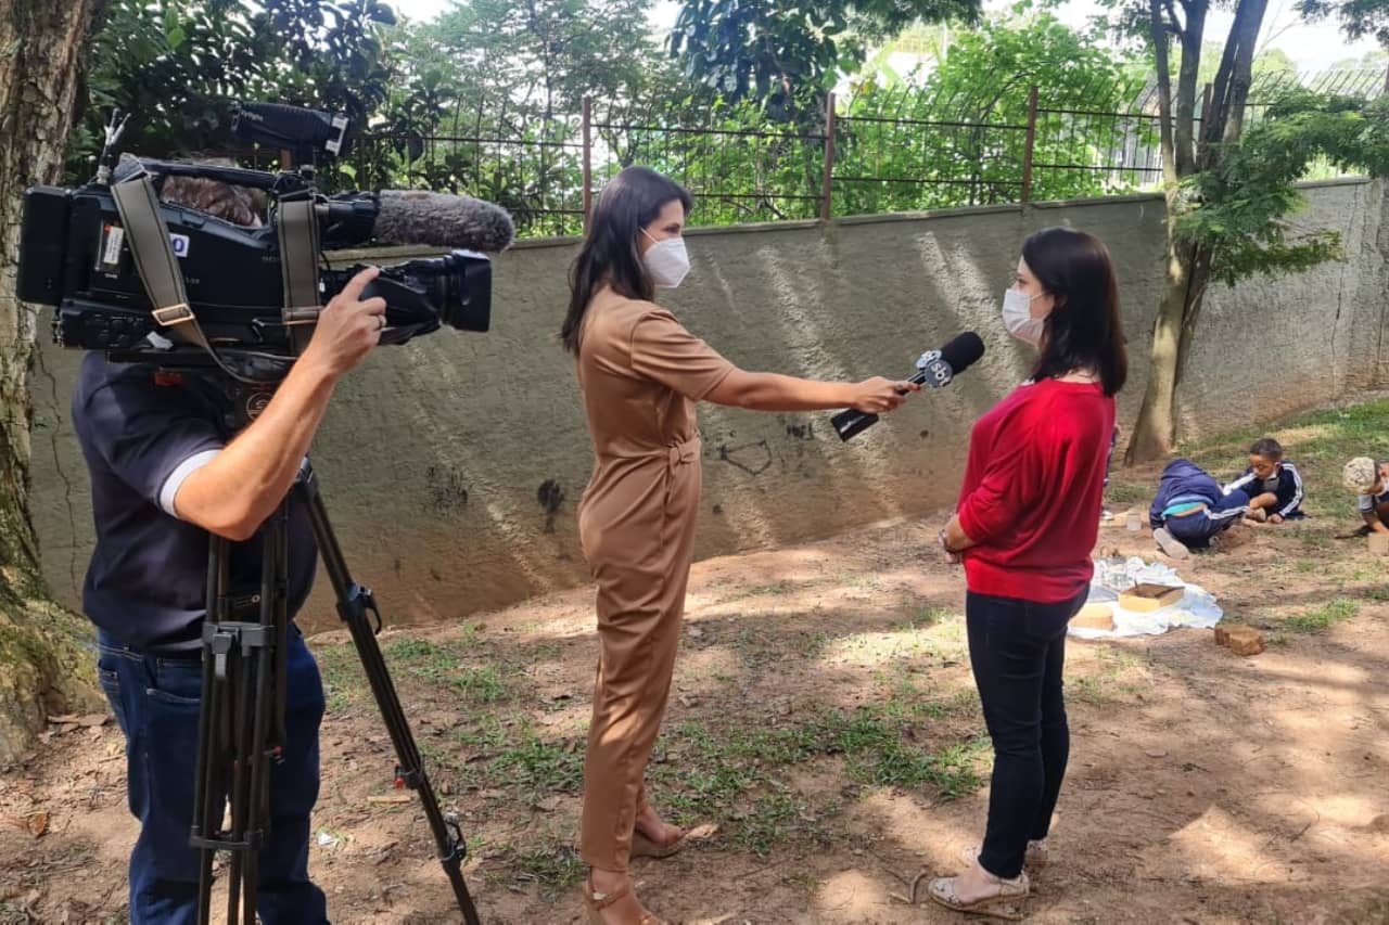
<svg viewBox="0 0 1389 925">
<path fill-rule="evenodd" d="M 1060 604 L 974 592 L 965 597 L 970 664 L 993 740 L 979 864 L 995 876 L 1021 874 L 1028 840 L 1045 839 L 1051 828 L 1071 751 L 1061 690 L 1065 625 L 1086 596 Z"/>
</svg>

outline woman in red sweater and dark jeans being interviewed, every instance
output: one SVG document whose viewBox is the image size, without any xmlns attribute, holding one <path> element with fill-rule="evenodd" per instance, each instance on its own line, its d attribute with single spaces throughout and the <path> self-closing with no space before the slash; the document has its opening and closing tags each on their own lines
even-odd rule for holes
<svg viewBox="0 0 1389 925">
<path fill-rule="evenodd" d="M 1070 751 L 1065 626 L 1089 590 L 1114 394 L 1128 374 L 1108 250 L 1067 228 L 1029 238 L 1003 321 L 1038 361 L 974 425 L 960 504 L 940 531 L 968 583 L 970 662 L 993 740 L 989 821 L 970 867 L 935 881 L 931 899 L 1006 915 L 996 907 L 1029 890 L 1024 860 L 1045 860 Z"/>
</svg>

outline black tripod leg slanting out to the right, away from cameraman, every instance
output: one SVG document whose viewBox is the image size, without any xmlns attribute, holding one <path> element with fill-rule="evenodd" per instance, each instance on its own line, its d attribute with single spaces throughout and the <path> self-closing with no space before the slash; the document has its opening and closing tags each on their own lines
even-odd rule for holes
<svg viewBox="0 0 1389 925">
<path fill-rule="evenodd" d="M 396 694 L 390 672 L 386 669 L 386 660 L 381 653 L 381 646 L 376 643 L 375 629 L 381 626 L 381 614 L 376 610 L 376 603 L 372 600 L 371 592 L 357 585 L 347 571 L 342 547 L 338 546 L 338 538 L 328 522 L 328 510 L 324 507 L 322 496 L 318 492 L 318 479 L 307 461 L 294 488 L 304 499 L 304 507 L 308 511 L 308 519 L 318 540 L 318 551 L 322 556 L 324 568 L 338 596 L 338 614 L 347 624 L 353 644 L 357 647 L 357 656 L 361 658 L 367 682 L 371 685 L 371 693 L 376 700 L 376 707 L 381 710 L 381 717 L 386 724 L 386 732 L 396 749 L 396 760 L 400 762 L 397 779 L 419 794 L 425 818 L 429 821 L 429 828 L 433 832 L 436 856 L 453 886 L 453 894 L 458 901 L 458 910 L 463 912 L 464 921 L 467 925 L 481 925 L 478 911 L 472 906 L 472 897 L 468 894 L 468 885 L 463 879 L 463 861 L 467 857 L 467 844 L 464 843 L 463 832 L 457 821 L 446 819 L 439 810 L 439 800 L 435 797 L 433 785 L 425 772 L 424 762 L 419 758 L 419 749 L 415 744 L 414 735 L 410 732 L 410 722 L 406 719 L 406 711 L 400 706 L 400 697 Z M 375 629 L 367 619 L 368 612 L 376 617 Z"/>
</svg>

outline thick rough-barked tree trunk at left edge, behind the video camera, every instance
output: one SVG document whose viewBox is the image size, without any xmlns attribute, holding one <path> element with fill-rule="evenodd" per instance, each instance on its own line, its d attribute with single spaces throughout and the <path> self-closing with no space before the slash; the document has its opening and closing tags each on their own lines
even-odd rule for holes
<svg viewBox="0 0 1389 925">
<path fill-rule="evenodd" d="M 28 374 L 35 314 L 15 300 L 24 190 L 54 183 L 79 62 L 101 0 L 0 7 L 0 764 L 32 744 L 46 712 L 99 703 L 81 617 L 51 601 L 29 519 Z"/>
</svg>

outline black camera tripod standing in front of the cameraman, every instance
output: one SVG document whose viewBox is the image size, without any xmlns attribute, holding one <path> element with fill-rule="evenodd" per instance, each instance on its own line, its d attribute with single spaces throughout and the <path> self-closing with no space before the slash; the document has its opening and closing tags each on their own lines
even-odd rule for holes
<svg viewBox="0 0 1389 925">
<path fill-rule="evenodd" d="M 250 404 L 250 403 L 247 403 Z M 328 522 L 318 479 L 304 460 L 292 494 L 303 501 L 318 551 L 338 596 L 338 614 L 371 685 L 371 693 L 396 750 L 396 786 L 419 794 L 436 854 L 453 886 L 467 925 L 479 925 L 463 879 L 467 849 L 456 818 L 439 810 L 404 710 L 386 669 L 376 633 L 381 611 L 371 592 L 347 571 Z M 289 640 L 289 500 L 261 526 L 261 589 L 236 599 L 229 581 L 226 539 L 213 536 L 208 550 L 207 619 L 203 624 L 203 697 L 199 717 L 197 776 L 193 785 L 190 844 L 200 850 L 199 924 L 211 921 L 213 860 L 231 851 L 228 925 L 256 925 L 258 851 L 269 825 L 271 765 L 285 746 L 286 644 Z M 258 600 L 257 600 L 258 597 Z M 258 604 L 258 622 L 240 621 Z M 368 614 L 375 625 L 368 621 Z"/>
</svg>

